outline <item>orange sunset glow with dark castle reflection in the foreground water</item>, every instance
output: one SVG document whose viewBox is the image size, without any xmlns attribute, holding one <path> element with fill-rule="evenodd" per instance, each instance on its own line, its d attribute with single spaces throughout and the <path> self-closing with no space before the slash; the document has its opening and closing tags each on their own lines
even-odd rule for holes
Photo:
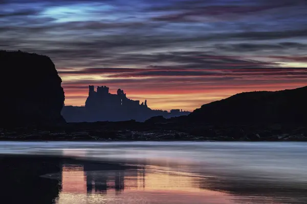
<svg viewBox="0 0 307 204">
<path fill-rule="evenodd" d="M 235 203 L 226 193 L 200 188 L 198 180 L 205 177 L 169 167 L 104 170 L 105 165 L 63 164 L 56 203 Z"/>
</svg>

